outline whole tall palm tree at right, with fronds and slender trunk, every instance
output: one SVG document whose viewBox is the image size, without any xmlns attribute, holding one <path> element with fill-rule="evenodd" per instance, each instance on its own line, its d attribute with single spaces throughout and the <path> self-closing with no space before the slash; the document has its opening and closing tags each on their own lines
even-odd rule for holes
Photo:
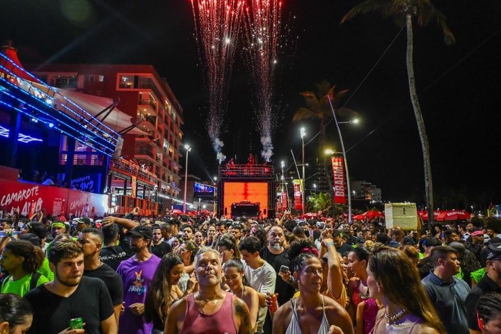
<svg viewBox="0 0 501 334">
<path fill-rule="evenodd" d="M 429 143 L 424 120 L 421 114 L 421 107 L 417 99 L 415 89 L 414 64 L 413 64 L 413 18 L 420 26 L 426 26 L 434 20 L 444 33 L 446 44 L 455 42 L 449 27 L 445 23 L 445 16 L 437 10 L 431 0 L 367 0 L 351 9 L 347 15 L 344 15 L 341 23 L 347 22 L 356 15 L 367 14 L 367 12 L 380 12 L 384 18 L 391 17 L 398 26 L 406 25 L 407 30 L 407 76 L 411 102 L 414 115 L 417 122 L 417 131 L 420 135 L 421 147 L 424 160 L 424 187 L 427 199 L 429 224 L 433 224 L 434 217 L 434 199 L 433 182 L 431 181 L 431 162 L 429 154 Z"/>
</svg>

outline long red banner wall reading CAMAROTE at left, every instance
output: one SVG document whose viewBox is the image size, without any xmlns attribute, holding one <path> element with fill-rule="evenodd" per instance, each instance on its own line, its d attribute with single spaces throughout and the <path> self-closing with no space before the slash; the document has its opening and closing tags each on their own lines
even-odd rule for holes
<svg viewBox="0 0 501 334">
<path fill-rule="evenodd" d="M 21 215 L 45 209 L 46 215 L 88 215 L 94 210 L 102 216 L 108 210 L 108 196 L 70 190 L 51 185 L 0 179 L 0 208 L 10 212 L 13 208 Z"/>
</svg>

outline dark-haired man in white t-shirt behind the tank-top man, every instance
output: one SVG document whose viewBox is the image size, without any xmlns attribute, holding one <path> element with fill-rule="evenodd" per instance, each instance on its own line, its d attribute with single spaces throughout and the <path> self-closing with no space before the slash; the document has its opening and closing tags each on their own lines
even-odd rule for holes
<svg viewBox="0 0 501 334">
<path fill-rule="evenodd" d="M 246 262 L 245 276 L 250 287 L 257 291 L 260 299 L 260 310 L 257 316 L 256 333 L 264 333 L 264 320 L 267 315 L 267 293 L 275 292 L 276 272 L 271 265 L 260 256 L 261 242 L 257 237 L 246 237 L 239 244 L 242 259 Z"/>
</svg>

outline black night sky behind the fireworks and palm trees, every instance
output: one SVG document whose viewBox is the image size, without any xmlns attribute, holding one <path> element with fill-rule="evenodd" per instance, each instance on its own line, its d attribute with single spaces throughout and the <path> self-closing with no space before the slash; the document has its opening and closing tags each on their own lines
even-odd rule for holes
<svg viewBox="0 0 501 334">
<path fill-rule="evenodd" d="M 300 158 L 301 126 L 307 142 L 319 129 L 315 122 L 292 122 L 303 106 L 299 92 L 314 90 L 324 79 L 355 92 L 399 33 L 399 27 L 377 14 L 340 25 L 343 15 L 360 2 L 284 1 L 285 21 L 293 24 L 289 38 L 297 41 L 279 59 L 276 166 L 280 160 L 291 165 L 290 149 Z M 501 3 L 434 3 L 456 37 L 456 44 L 448 47 L 436 25 L 415 25 L 415 76 L 429 135 L 436 207 L 482 209 L 501 202 Z M 207 92 L 188 0 L 18 0 L 3 1 L 1 12 L 0 40 L 14 41 L 22 62 L 154 65 L 184 108 L 185 141 L 193 147 L 190 173 L 216 175 L 205 131 Z M 363 85 L 353 96 L 348 94 L 346 107 L 358 112 L 361 123 L 343 124 L 342 133 L 351 178 L 381 187 L 385 201 L 423 203 L 422 151 L 408 95 L 405 52 L 404 29 Z M 242 163 L 248 153 L 259 156 L 261 149 L 249 79 L 237 55 L 223 152 Z M 328 142 L 340 150 L 334 124 L 328 126 Z M 307 160 L 317 158 L 317 139 L 306 151 Z"/>
</svg>

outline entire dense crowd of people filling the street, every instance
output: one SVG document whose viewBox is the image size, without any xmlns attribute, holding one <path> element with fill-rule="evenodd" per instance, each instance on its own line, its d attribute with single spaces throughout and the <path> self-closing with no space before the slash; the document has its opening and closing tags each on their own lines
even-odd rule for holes
<svg viewBox="0 0 501 334">
<path fill-rule="evenodd" d="M 1 219 L 1 333 L 500 333 L 498 219 L 63 220 Z"/>
</svg>

